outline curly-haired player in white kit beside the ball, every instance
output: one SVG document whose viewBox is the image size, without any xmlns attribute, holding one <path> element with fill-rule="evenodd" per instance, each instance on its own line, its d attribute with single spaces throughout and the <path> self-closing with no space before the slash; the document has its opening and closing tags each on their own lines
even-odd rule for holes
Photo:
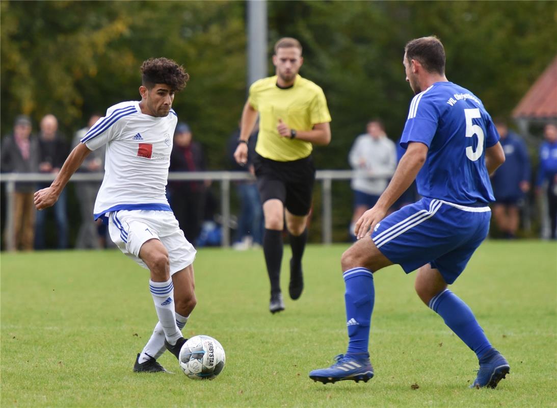
<svg viewBox="0 0 557 408">
<path fill-rule="evenodd" d="M 141 101 L 111 106 L 70 153 L 51 186 L 35 193 L 38 210 L 52 206 L 87 154 L 106 145 L 105 176 L 94 217 L 108 222 L 124 254 L 150 271 L 149 289 L 159 322 L 138 354 L 134 371 L 165 371 L 157 358 L 169 349 L 177 358 L 181 329 L 196 305 L 196 250 L 179 229 L 165 196 L 177 116 L 176 91 L 189 75 L 176 62 L 150 59 L 141 66 Z"/>
</svg>

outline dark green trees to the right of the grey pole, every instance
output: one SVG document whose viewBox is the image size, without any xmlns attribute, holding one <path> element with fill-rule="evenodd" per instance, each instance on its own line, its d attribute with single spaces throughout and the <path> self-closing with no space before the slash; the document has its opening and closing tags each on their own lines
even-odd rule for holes
<svg viewBox="0 0 557 408">
<path fill-rule="evenodd" d="M 557 53 L 555 2 L 270 4 L 270 40 L 299 37 L 302 74 L 328 97 L 332 148 L 317 149 L 317 167 L 347 168 L 346 154 L 370 118 L 382 118 L 398 139 L 412 98 L 402 65 L 412 38 L 441 38 L 448 79 L 480 96 L 494 116 L 509 116 Z"/>
</svg>

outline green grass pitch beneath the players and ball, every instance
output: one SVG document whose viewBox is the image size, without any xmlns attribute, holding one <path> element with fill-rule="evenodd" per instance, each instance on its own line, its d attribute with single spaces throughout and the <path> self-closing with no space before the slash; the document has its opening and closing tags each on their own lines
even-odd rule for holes
<svg viewBox="0 0 557 408">
<path fill-rule="evenodd" d="M 375 276 L 373 380 L 309 380 L 310 370 L 345 351 L 345 248 L 309 246 L 306 290 L 277 315 L 267 311 L 261 251 L 198 252 L 198 305 L 184 334 L 222 343 L 227 364 L 214 381 L 189 380 L 169 353 L 160 362 L 176 375 L 131 371 L 156 317 L 147 271 L 120 252 L 4 253 L 0 405 L 557 406 L 554 243 L 485 242 L 452 286 L 510 362 L 511 374 L 496 390 L 467 388 L 474 354 L 421 304 L 413 276 L 398 266 Z M 289 256 L 285 247 L 284 267 Z M 286 290 L 285 269 L 282 275 Z"/>
</svg>

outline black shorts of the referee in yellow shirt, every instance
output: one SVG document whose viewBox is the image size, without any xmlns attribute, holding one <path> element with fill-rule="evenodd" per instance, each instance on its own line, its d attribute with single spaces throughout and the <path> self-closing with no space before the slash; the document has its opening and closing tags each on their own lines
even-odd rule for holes
<svg viewBox="0 0 557 408">
<path fill-rule="evenodd" d="M 294 215 L 309 214 L 315 182 L 311 156 L 291 162 L 277 162 L 256 153 L 253 167 L 262 203 L 276 198 Z"/>
</svg>

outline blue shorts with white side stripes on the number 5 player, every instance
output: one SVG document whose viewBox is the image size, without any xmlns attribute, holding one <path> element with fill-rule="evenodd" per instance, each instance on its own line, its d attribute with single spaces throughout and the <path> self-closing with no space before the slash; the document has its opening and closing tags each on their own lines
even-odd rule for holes
<svg viewBox="0 0 557 408">
<path fill-rule="evenodd" d="M 452 284 L 487 236 L 489 207 L 465 207 L 422 198 L 375 226 L 373 242 L 405 273 L 431 264 Z"/>
</svg>

